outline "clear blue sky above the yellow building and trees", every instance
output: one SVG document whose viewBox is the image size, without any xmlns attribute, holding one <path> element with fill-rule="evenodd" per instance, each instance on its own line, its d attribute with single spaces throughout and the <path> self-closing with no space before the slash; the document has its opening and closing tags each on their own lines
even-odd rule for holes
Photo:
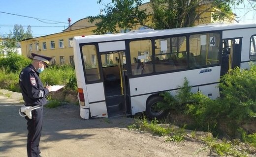
<svg viewBox="0 0 256 157">
<path fill-rule="evenodd" d="M 105 4 L 110 1 L 102 0 Z M 68 27 L 68 18 L 73 24 L 88 16 L 96 16 L 104 8 L 103 3 L 97 4 L 97 0 L 1 0 L 0 36 L 7 36 L 15 24 L 22 25 L 25 31 L 27 26 L 32 26 L 33 37 L 59 33 Z M 248 7 L 248 2 L 233 7 L 237 20 L 256 23 L 256 11 L 250 11 Z"/>
</svg>

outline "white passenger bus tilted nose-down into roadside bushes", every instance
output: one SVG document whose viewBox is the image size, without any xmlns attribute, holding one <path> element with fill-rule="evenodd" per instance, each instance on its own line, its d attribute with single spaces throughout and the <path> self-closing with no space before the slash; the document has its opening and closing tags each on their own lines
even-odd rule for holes
<svg viewBox="0 0 256 157">
<path fill-rule="evenodd" d="M 215 99 L 228 69 L 256 59 L 256 24 L 145 29 L 74 38 L 80 116 L 115 117 L 156 109 L 163 92 L 175 95 L 186 77 L 192 92 Z"/>
</svg>

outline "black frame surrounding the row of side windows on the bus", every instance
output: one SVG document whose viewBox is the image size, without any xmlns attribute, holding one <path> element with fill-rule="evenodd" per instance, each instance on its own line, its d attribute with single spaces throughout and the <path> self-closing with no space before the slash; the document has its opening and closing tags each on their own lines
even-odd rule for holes
<svg viewBox="0 0 256 157">
<path fill-rule="evenodd" d="M 160 74 L 166 74 L 166 73 L 174 73 L 174 72 L 179 72 L 179 71 L 186 71 L 186 70 L 192 70 L 192 69 L 200 69 L 200 68 L 207 68 L 207 67 L 214 67 L 214 66 L 220 66 L 222 63 L 222 35 L 223 35 L 224 30 L 213 30 L 213 31 L 198 31 L 198 32 L 191 32 L 191 33 L 181 33 L 181 34 L 174 34 L 174 35 L 163 35 L 163 36 L 153 36 L 153 37 L 143 37 L 143 38 L 132 38 L 132 39 L 124 39 L 125 45 L 126 45 L 126 50 L 122 50 L 126 54 L 126 68 L 128 70 L 128 78 L 139 78 L 139 77 L 146 77 L 146 76 L 152 76 L 152 75 L 160 75 Z M 205 65 L 205 66 L 199 66 L 199 67 L 190 67 L 190 55 L 188 52 L 190 52 L 190 36 L 195 35 L 195 34 L 206 34 L 206 33 L 219 33 L 220 38 L 219 38 L 219 52 L 218 52 L 218 59 L 219 63 L 214 64 L 214 65 Z M 156 72 L 155 69 L 155 59 L 154 57 L 156 56 L 156 51 L 155 51 L 155 40 L 158 39 L 164 39 L 164 38 L 175 38 L 175 37 L 186 37 L 186 51 L 187 51 L 187 68 L 182 68 L 182 69 L 176 69 L 176 70 L 168 70 L 168 71 L 162 71 L 162 72 Z M 140 74 L 140 75 L 132 75 L 131 73 L 131 58 L 130 58 L 130 48 L 129 48 L 129 43 L 132 41 L 139 41 L 139 40 L 150 40 L 151 41 L 151 49 L 152 49 L 152 64 L 153 64 L 153 72 L 148 73 L 148 74 Z M 120 40 L 113 40 L 113 41 L 120 41 Z M 111 42 L 113 42 L 111 41 Z M 108 52 L 99 52 L 98 44 L 101 42 L 91 42 L 91 43 L 80 43 L 80 52 L 81 56 L 83 55 L 82 52 L 82 47 L 85 45 L 95 45 L 96 46 L 96 55 L 98 59 L 98 66 L 102 67 L 101 65 L 101 54 L 108 53 Z M 110 51 L 113 52 L 113 51 Z M 176 52 L 178 53 L 178 52 Z M 180 52 L 179 52 L 180 53 Z M 99 56 L 98 56 L 99 55 Z M 98 83 L 98 82 L 103 82 L 103 74 L 102 74 L 102 68 L 99 68 L 99 73 L 100 73 L 100 79 L 95 80 L 95 81 L 89 81 L 86 79 L 86 73 L 85 73 L 85 66 L 84 66 L 84 60 L 82 59 L 82 64 L 83 64 L 83 70 L 84 70 L 84 77 L 86 80 L 86 84 L 92 84 L 92 83 Z"/>
</svg>

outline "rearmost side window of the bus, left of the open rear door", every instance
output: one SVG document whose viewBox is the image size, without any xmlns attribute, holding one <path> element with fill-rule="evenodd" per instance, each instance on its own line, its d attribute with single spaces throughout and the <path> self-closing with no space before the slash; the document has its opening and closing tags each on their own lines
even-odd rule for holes
<svg viewBox="0 0 256 157">
<path fill-rule="evenodd" d="M 84 60 L 85 76 L 88 81 L 95 81 L 100 79 L 98 58 L 95 45 L 85 45 L 82 47 L 83 55 L 90 56 Z"/>
</svg>

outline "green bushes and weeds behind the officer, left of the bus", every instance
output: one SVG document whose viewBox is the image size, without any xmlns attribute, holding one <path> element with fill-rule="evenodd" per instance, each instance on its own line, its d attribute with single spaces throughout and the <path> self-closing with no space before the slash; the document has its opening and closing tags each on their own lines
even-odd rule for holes
<svg viewBox="0 0 256 157">
<path fill-rule="evenodd" d="M 0 88 L 20 92 L 19 74 L 31 63 L 30 59 L 13 53 L 0 57 Z M 75 70 L 71 65 L 55 65 L 45 68 L 40 78 L 44 85 L 65 85 L 66 90 L 77 89 Z"/>
</svg>

